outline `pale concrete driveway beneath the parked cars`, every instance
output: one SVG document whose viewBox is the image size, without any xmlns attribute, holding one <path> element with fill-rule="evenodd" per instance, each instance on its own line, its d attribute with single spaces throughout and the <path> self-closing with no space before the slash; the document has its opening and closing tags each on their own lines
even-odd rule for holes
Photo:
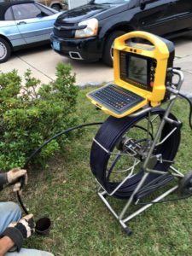
<svg viewBox="0 0 192 256">
<path fill-rule="evenodd" d="M 192 35 L 174 39 L 173 42 L 176 45 L 175 67 L 182 67 L 185 76 L 183 90 L 192 93 Z M 30 68 L 34 77 L 47 83 L 55 79 L 55 66 L 58 62 L 72 65 L 79 85 L 113 81 L 113 68 L 106 67 L 102 61 L 82 63 L 69 60 L 56 54 L 49 46 L 15 52 L 9 61 L 0 64 L 0 71 L 6 73 L 15 68 L 23 75 Z"/>
</svg>

